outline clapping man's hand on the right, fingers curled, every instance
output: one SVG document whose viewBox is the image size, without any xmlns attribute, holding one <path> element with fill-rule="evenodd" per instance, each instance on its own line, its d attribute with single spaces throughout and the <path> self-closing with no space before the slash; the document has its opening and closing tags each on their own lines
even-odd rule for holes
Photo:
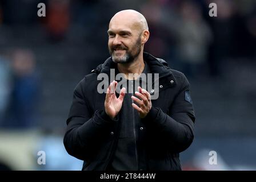
<svg viewBox="0 0 256 182">
<path fill-rule="evenodd" d="M 136 102 L 139 106 L 136 104 L 132 104 L 133 108 L 136 109 L 139 112 L 140 118 L 145 118 L 147 113 L 149 113 L 151 109 L 151 100 L 150 100 L 150 94 L 147 92 L 147 90 L 142 89 L 140 86 L 138 86 L 138 91 L 135 92 L 135 95 L 138 97 L 131 96 L 131 99 Z M 139 99 L 140 98 L 140 99 Z"/>
</svg>

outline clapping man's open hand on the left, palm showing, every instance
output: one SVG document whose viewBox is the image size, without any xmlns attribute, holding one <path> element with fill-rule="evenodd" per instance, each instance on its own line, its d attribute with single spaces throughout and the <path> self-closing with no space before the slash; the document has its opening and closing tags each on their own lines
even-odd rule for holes
<svg viewBox="0 0 256 182">
<path fill-rule="evenodd" d="M 113 119 L 121 110 L 123 104 L 123 98 L 125 97 L 125 88 L 122 88 L 119 97 L 115 96 L 115 90 L 117 89 L 117 81 L 112 81 L 107 88 L 105 99 L 105 111 L 111 119 Z"/>
</svg>

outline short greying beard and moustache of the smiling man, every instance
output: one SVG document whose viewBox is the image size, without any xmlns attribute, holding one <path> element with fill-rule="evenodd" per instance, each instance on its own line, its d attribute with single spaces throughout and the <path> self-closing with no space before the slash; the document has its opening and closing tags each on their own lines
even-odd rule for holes
<svg viewBox="0 0 256 182">
<path fill-rule="evenodd" d="M 122 53 L 118 53 L 118 52 L 115 53 L 114 49 L 121 49 L 125 51 L 125 54 L 122 56 Z M 135 60 L 136 57 L 138 57 L 140 52 L 141 52 L 140 36 L 130 50 L 126 46 L 122 46 L 122 45 L 109 47 L 109 53 L 114 63 L 131 63 Z"/>
</svg>

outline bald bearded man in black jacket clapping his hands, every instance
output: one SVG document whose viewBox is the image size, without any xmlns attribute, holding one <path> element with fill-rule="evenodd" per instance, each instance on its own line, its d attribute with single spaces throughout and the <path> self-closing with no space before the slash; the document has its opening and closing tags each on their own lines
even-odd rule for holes
<svg viewBox="0 0 256 182">
<path fill-rule="evenodd" d="M 142 14 L 119 11 L 107 32 L 111 57 L 74 90 L 64 137 L 67 152 L 84 160 L 83 170 L 180 170 L 179 152 L 194 138 L 189 82 L 164 60 L 143 52 L 149 28 Z M 110 80 L 101 94 L 97 77 L 111 77 L 111 69 L 130 85 L 118 94 L 118 82 Z M 140 75 L 150 73 L 159 76 L 154 89 L 133 88 Z M 158 97 L 151 100 L 155 92 Z"/>
</svg>

